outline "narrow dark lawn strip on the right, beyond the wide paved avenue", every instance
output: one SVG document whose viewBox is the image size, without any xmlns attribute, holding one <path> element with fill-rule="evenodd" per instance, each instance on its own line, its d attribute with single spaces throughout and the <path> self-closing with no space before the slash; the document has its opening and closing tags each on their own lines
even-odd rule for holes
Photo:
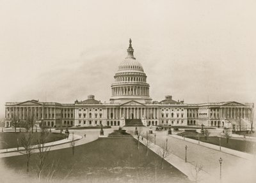
<svg viewBox="0 0 256 183">
<path fill-rule="evenodd" d="M 198 140 L 197 136 L 193 136 L 193 137 L 187 136 L 187 138 L 193 138 L 195 140 Z M 200 141 L 212 143 L 214 145 L 220 145 L 220 139 L 218 136 L 209 136 L 207 140 L 205 140 L 204 137 L 200 137 Z M 227 143 L 226 138 L 221 138 L 221 147 L 227 147 L 229 149 L 239 150 L 242 152 L 253 153 L 253 145 L 256 147 L 255 142 L 250 142 L 246 140 L 236 140 L 236 139 L 230 138 Z"/>
</svg>

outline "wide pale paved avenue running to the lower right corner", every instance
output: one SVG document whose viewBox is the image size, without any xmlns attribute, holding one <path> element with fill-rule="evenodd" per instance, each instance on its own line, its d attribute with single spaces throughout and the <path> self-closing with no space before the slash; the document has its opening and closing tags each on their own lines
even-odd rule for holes
<svg viewBox="0 0 256 183">
<path fill-rule="evenodd" d="M 211 177 L 220 177 L 220 157 L 223 159 L 222 163 L 222 181 L 223 182 L 241 182 L 246 179 L 246 182 L 255 182 L 256 164 L 255 158 L 248 160 L 242 157 L 237 157 L 220 150 L 214 150 L 203 145 L 198 145 L 193 142 L 188 142 L 168 136 L 167 131 L 156 132 L 156 144 L 166 144 L 168 139 L 168 147 L 172 150 L 172 154 L 185 159 L 185 145 L 188 145 L 187 157 L 188 163 L 195 166 L 202 164 L 204 172 L 209 173 Z M 212 180 L 207 178 L 208 180 Z M 217 179 L 218 180 L 218 179 Z M 205 182 L 206 180 L 202 180 Z M 211 181 L 212 182 L 212 181 Z"/>
</svg>

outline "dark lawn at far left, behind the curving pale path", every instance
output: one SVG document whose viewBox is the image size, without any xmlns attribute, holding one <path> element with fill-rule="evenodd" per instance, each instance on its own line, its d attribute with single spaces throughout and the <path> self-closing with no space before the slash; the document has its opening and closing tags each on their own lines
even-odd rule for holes
<svg viewBox="0 0 256 183">
<path fill-rule="evenodd" d="M 3 132 L 0 133 L 0 149 L 8 149 L 17 147 L 17 138 L 19 138 L 19 145 L 21 146 L 21 136 L 24 132 Z M 36 144 L 36 140 L 40 135 L 39 132 L 33 133 L 33 144 Z M 65 138 L 65 134 L 61 133 L 49 133 L 46 142 L 54 142 Z"/>
</svg>

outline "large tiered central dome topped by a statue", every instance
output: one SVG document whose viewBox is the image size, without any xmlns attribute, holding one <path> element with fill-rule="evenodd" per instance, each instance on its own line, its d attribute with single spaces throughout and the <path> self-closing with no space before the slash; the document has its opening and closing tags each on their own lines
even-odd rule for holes
<svg viewBox="0 0 256 183">
<path fill-rule="evenodd" d="M 139 103 L 151 103 L 149 96 L 149 84 L 140 62 L 133 56 L 132 40 L 130 39 L 128 55 L 118 66 L 115 73 L 115 82 L 111 84 L 111 103 L 127 103 L 137 101 Z"/>
</svg>

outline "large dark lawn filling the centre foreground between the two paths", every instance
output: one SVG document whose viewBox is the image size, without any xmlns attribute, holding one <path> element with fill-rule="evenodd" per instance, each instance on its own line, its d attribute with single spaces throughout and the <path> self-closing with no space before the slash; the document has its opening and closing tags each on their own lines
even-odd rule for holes
<svg viewBox="0 0 256 183">
<path fill-rule="evenodd" d="M 26 157 L 3 158 L 4 164 L 15 172 L 26 172 Z M 36 154 L 31 157 L 30 170 L 36 170 Z M 138 150 L 134 138 L 99 138 L 79 145 L 72 156 L 72 149 L 49 152 L 43 176 L 49 171 L 53 180 L 60 182 L 189 182 L 186 175 L 166 161 L 161 169 L 161 158 L 146 147 Z M 35 177 L 35 172 L 29 172 Z M 155 180 L 156 179 L 156 180 Z"/>
</svg>

